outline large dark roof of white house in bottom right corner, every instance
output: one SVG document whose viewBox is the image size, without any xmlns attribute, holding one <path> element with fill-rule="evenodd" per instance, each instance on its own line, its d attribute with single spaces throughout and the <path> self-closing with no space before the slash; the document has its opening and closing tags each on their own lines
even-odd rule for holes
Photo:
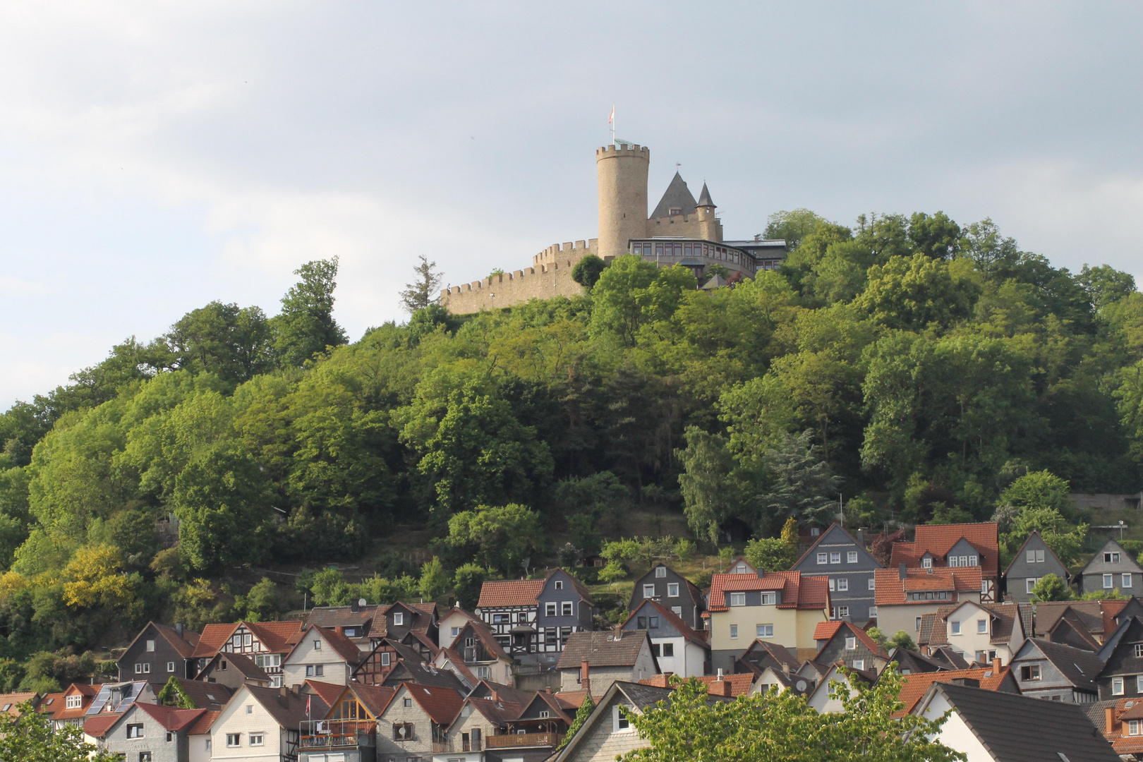
<svg viewBox="0 0 1143 762">
<path fill-rule="evenodd" d="M 997 762 L 1119 762 L 1081 705 L 965 685 L 934 690 L 957 707 Z"/>
</svg>

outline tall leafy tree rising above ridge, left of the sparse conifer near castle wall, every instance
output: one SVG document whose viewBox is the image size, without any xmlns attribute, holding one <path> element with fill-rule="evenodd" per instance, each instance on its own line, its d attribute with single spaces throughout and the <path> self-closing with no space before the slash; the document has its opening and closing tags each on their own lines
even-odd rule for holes
<svg viewBox="0 0 1143 762">
<path fill-rule="evenodd" d="M 329 346 L 345 344 L 346 336 L 334 320 L 337 257 L 314 259 L 294 271 L 301 280 L 282 297 L 282 311 L 273 318 L 274 350 L 287 368 L 301 368 Z"/>
</svg>

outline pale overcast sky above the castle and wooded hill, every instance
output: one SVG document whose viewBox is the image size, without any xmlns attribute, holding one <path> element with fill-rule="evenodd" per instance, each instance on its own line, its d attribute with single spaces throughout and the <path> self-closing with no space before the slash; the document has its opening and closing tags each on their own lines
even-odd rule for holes
<svg viewBox="0 0 1143 762">
<path fill-rule="evenodd" d="M 451 283 L 594 238 L 594 149 L 781 209 L 991 217 L 1143 276 L 1143 6 L 0 3 L 0 407 L 211 299 L 341 256 L 357 339 L 418 254 Z"/>
</svg>

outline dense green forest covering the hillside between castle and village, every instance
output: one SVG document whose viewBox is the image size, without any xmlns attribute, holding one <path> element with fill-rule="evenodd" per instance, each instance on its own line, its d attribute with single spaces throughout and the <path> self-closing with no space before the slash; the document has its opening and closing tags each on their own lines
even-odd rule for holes
<svg viewBox="0 0 1143 762">
<path fill-rule="evenodd" d="M 1040 528 L 1076 561 L 1066 494 L 1143 487 L 1129 274 L 942 212 L 796 210 L 764 234 L 785 264 L 733 287 L 622 257 L 578 268 L 585 296 L 467 316 L 422 257 L 409 319 L 355 342 L 315 260 L 274 316 L 213 302 L 17 402 L 0 688 L 66 683 L 147 619 L 472 605 L 487 578 L 602 553 L 580 571 L 621 579 L 657 546 L 765 547 L 839 507 L 890 530 L 997 516 L 1007 552 Z M 615 542 L 636 515 L 676 537 Z"/>
</svg>

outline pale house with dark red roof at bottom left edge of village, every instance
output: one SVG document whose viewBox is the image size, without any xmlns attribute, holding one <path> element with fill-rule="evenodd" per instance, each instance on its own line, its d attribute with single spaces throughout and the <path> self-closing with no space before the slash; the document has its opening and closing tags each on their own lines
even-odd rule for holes
<svg viewBox="0 0 1143 762">
<path fill-rule="evenodd" d="M 96 747 L 125 760 L 186 762 L 190 759 L 189 728 L 206 709 L 178 709 L 157 704 L 133 704 L 115 721 L 91 725 L 87 735 Z M 95 735 L 98 733 L 98 735 Z"/>
</svg>

